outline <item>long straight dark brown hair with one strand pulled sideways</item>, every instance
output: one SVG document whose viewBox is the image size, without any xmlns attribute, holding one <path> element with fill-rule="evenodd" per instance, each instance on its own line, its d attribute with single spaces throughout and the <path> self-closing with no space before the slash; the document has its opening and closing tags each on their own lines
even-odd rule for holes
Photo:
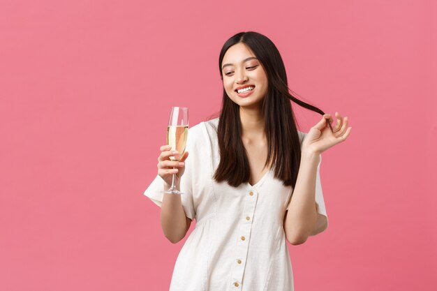
<svg viewBox="0 0 437 291">
<path fill-rule="evenodd" d="M 285 186 L 294 188 L 299 171 L 301 148 L 290 100 L 322 115 L 325 113 L 290 94 L 286 68 L 279 50 L 272 40 L 254 31 L 237 33 L 225 42 L 218 59 L 221 80 L 223 80 L 221 70 L 223 57 L 226 51 L 237 43 L 244 43 L 249 47 L 267 73 L 267 94 L 262 101 L 268 148 L 265 167 L 272 167 L 274 177 L 281 179 Z M 239 105 L 229 98 L 224 87 L 217 135 L 220 163 L 214 173 L 214 179 L 217 182 L 227 181 L 234 187 L 248 183 L 250 168 L 242 142 Z"/>
</svg>

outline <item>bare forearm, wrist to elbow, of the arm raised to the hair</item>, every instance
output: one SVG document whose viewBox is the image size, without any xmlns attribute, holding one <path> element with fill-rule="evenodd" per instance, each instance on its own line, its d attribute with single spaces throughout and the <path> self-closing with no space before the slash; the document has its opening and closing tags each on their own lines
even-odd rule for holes
<svg viewBox="0 0 437 291">
<path fill-rule="evenodd" d="M 286 239 L 290 244 L 303 244 L 316 232 L 316 174 L 319 162 L 320 155 L 302 151 L 295 189 L 284 218 Z"/>
</svg>

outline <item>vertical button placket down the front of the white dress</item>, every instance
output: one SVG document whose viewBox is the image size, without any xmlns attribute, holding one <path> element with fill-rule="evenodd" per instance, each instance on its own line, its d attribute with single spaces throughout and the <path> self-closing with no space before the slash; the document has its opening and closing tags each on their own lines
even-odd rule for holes
<svg viewBox="0 0 437 291">
<path fill-rule="evenodd" d="M 235 263 L 232 266 L 232 281 L 242 286 L 244 269 L 246 267 L 247 251 L 251 237 L 253 214 L 255 213 L 258 193 L 250 190 L 244 200 L 244 210 L 239 223 L 239 232 L 237 237 L 237 250 L 235 251 Z M 247 219 L 249 217 L 249 219 Z M 236 286 L 234 286 L 235 288 Z"/>
</svg>

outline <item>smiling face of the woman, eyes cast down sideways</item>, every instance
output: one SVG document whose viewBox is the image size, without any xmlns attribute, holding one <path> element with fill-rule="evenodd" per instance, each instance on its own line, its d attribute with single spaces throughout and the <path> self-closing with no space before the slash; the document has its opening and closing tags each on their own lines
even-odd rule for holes
<svg viewBox="0 0 437 291">
<path fill-rule="evenodd" d="M 232 101 L 243 107 L 262 104 L 267 94 L 267 74 L 249 47 L 244 43 L 232 45 L 223 57 L 221 70 L 223 87 Z"/>
</svg>

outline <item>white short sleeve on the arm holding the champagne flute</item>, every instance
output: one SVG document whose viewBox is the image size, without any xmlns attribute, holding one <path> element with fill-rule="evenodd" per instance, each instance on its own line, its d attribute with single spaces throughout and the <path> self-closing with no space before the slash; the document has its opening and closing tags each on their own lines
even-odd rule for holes
<svg viewBox="0 0 437 291">
<path fill-rule="evenodd" d="M 195 208 L 193 203 L 193 177 L 195 177 L 195 151 L 191 151 L 195 145 L 195 140 L 198 138 L 199 130 L 195 127 L 188 130 L 188 137 L 186 141 L 185 151 L 188 151 L 188 158 L 185 162 L 185 172 L 182 175 L 180 182 L 180 191 L 182 191 L 181 201 L 182 207 L 184 207 L 186 217 L 191 220 L 195 219 Z M 159 175 L 156 175 L 155 179 L 147 187 L 144 195 L 154 202 L 158 207 L 161 207 L 163 202 L 163 195 L 161 191 L 164 190 L 164 181 Z"/>
</svg>

